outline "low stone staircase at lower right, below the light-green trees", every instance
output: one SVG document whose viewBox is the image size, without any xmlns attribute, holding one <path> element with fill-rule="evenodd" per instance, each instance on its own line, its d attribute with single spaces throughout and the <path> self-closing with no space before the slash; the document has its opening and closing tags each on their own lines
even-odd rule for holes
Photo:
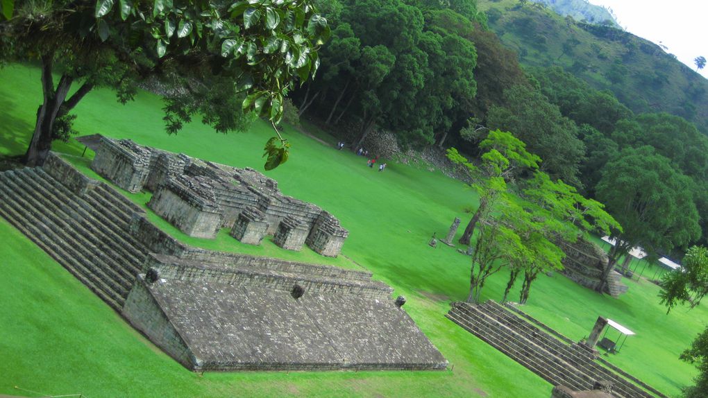
<svg viewBox="0 0 708 398">
<path fill-rule="evenodd" d="M 569 339 L 551 333 L 542 324 L 530 323 L 533 318 L 515 313 L 523 314 L 489 300 L 481 305 L 453 303 L 446 316 L 553 385 L 582 391 L 592 390 L 598 380 L 608 380 L 615 385 L 612 392 L 615 397 L 665 397 L 636 378 L 627 377 L 627 373 L 600 365 L 583 347 L 569 344 L 572 343 Z"/>
</svg>

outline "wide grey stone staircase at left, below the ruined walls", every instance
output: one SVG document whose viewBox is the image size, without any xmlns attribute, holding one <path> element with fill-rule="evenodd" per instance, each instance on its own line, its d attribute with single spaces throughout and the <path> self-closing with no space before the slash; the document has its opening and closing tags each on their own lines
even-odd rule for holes
<svg viewBox="0 0 708 398">
<path fill-rule="evenodd" d="M 83 194 L 42 168 L 0 173 L 0 215 L 115 310 L 147 255 L 127 227 L 135 205 L 103 184 Z"/>
</svg>

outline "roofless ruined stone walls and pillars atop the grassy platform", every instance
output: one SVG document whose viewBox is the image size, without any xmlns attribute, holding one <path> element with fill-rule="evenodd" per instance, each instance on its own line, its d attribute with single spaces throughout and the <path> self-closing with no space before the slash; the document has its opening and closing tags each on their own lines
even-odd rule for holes
<svg viewBox="0 0 708 398">
<path fill-rule="evenodd" d="M 251 168 L 207 162 L 130 140 L 99 137 L 94 142 L 98 144 L 93 146 L 96 157 L 91 168 L 129 192 L 153 192 L 150 209 L 187 235 L 211 239 L 219 228 L 230 228 L 234 238 L 257 245 L 265 226 L 265 234 L 275 235 L 281 247 L 297 251 L 308 245 L 327 257 L 337 257 L 349 235 L 331 213 L 283 195 L 278 182 Z M 260 224 L 249 228 L 254 216 Z"/>
</svg>

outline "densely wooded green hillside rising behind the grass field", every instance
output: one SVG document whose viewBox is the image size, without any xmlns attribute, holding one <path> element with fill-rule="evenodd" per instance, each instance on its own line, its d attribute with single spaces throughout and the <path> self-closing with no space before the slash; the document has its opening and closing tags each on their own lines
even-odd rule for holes
<svg viewBox="0 0 708 398">
<path fill-rule="evenodd" d="M 625 239 L 668 252 L 707 235 L 708 138 L 695 124 L 708 126 L 708 81 L 660 47 L 528 1 L 319 6 L 332 38 L 293 98 L 353 148 L 387 130 L 475 156 L 486 131 L 510 131 L 541 170 L 626 216 Z M 636 162 L 617 172 L 625 158 Z M 613 200 L 630 187 L 622 197 L 639 202 Z M 644 206 L 652 194 L 673 205 Z"/>
</svg>

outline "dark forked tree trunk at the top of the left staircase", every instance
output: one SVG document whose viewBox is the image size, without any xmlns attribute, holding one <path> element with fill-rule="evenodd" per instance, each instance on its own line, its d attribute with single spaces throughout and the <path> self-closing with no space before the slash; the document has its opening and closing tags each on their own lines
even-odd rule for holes
<svg viewBox="0 0 708 398">
<path fill-rule="evenodd" d="M 30 167 L 41 166 L 52 148 L 52 130 L 59 110 L 67 98 L 74 78 L 63 75 L 56 90 L 52 78 L 52 57 L 42 56 L 42 92 L 44 101 L 37 110 L 37 123 L 32 134 L 30 146 L 25 153 L 25 164 Z"/>
</svg>

